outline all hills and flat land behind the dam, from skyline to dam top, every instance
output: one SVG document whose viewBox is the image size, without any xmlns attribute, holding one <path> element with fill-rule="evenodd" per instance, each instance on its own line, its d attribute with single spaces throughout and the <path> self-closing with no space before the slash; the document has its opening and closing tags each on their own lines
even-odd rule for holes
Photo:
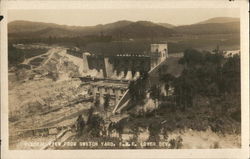
<svg viewBox="0 0 250 159">
<path fill-rule="evenodd" d="M 148 50 L 152 41 L 167 41 L 171 53 L 182 52 L 187 48 L 213 50 L 217 45 L 232 50 L 239 49 L 238 20 L 218 17 L 183 26 L 127 20 L 96 26 L 13 21 L 8 24 L 8 39 L 10 44 L 55 44 L 108 55 L 121 53 L 121 50 L 143 52 Z"/>
</svg>

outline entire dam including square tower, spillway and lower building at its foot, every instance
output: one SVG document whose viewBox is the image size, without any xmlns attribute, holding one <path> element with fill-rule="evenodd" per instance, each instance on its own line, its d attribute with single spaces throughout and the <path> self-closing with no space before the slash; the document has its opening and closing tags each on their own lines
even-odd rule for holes
<svg viewBox="0 0 250 159">
<path fill-rule="evenodd" d="M 105 56 L 90 52 L 82 54 L 83 81 L 90 81 L 89 92 L 94 100 L 103 105 L 110 96 L 110 109 L 113 113 L 129 100 L 129 81 L 137 80 L 140 75 L 150 73 L 166 60 L 168 46 L 151 44 L 150 50 L 138 53 L 117 53 Z"/>
</svg>

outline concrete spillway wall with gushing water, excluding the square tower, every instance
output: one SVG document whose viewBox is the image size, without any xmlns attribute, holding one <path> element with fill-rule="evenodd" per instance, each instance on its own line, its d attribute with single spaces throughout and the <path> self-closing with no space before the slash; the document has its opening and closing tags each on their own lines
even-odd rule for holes
<svg viewBox="0 0 250 159">
<path fill-rule="evenodd" d="M 83 55 L 84 72 L 91 77 L 133 80 L 141 72 L 151 69 L 149 56 L 142 55 L 117 55 L 95 56 Z"/>
</svg>

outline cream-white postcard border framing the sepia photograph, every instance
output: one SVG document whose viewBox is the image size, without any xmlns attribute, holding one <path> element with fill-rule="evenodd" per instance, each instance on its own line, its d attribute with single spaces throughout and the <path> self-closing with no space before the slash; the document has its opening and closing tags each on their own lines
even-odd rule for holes
<svg viewBox="0 0 250 159">
<path fill-rule="evenodd" d="M 247 158 L 249 153 L 249 19 L 248 2 L 242 1 L 9 1 L 1 14 L 1 134 L 3 159 L 27 158 Z M 119 8 L 240 8 L 242 148 L 181 150 L 8 150 L 8 9 L 119 9 Z"/>
</svg>

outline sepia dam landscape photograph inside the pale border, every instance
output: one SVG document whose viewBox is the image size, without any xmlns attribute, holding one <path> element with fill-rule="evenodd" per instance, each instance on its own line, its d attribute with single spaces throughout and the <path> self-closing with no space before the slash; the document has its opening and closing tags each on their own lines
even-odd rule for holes
<svg viewBox="0 0 250 159">
<path fill-rule="evenodd" d="M 240 22 L 237 8 L 8 10 L 9 149 L 241 148 Z"/>
</svg>

